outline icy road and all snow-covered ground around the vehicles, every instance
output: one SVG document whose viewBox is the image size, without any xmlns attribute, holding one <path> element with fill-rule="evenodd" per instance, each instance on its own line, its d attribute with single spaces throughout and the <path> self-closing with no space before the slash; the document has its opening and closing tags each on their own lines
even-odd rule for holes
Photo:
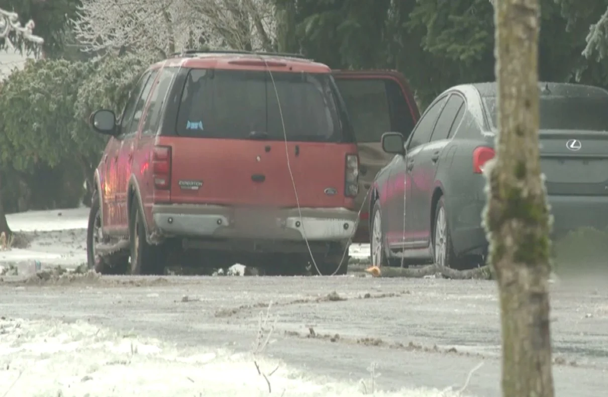
<svg viewBox="0 0 608 397">
<path fill-rule="evenodd" d="M 59 215 L 61 213 L 61 215 Z M 1 264 L 84 260 L 86 209 L 9 216 Z M 61 230 L 70 229 L 70 230 Z M 366 256 L 365 246 L 351 255 Z M 370 277 L 0 282 L 1 396 L 499 396 L 496 285 Z M 556 395 L 608 389 L 606 277 L 551 286 Z M 260 339 L 260 312 L 274 324 Z M 255 357 L 254 357 L 255 353 Z M 375 375 L 370 374 L 376 364 Z M 269 375 L 275 368 L 278 369 Z M 373 378 L 373 380 L 372 380 Z M 365 384 L 365 385 L 364 385 Z M 367 390 L 367 391 L 366 391 Z M 6 393 L 6 394 L 5 394 Z"/>
</svg>

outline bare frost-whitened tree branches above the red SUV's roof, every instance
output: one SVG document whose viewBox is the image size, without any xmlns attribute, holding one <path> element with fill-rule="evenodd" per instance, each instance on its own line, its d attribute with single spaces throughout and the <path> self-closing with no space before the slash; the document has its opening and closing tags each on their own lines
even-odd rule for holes
<svg viewBox="0 0 608 397">
<path fill-rule="evenodd" d="M 166 56 L 202 46 L 270 50 L 275 25 L 269 0 L 83 0 L 74 30 L 89 52 Z"/>
</svg>

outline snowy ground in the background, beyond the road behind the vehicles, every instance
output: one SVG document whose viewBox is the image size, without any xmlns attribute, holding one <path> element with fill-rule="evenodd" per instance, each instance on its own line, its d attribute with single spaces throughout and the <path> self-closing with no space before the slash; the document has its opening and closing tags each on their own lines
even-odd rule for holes
<svg viewBox="0 0 608 397">
<path fill-rule="evenodd" d="M 38 260 L 43 266 L 61 265 L 76 268 L 86 262 L 86 227 L 89 209 L 30 211 L 7 215 L 9 227 L 15 232 L 32 236 L 27 249 L 0 252 L 2 263 Z M 367 258 L 368 244 L 353 244 L 351 257 Z"/>
</svg>

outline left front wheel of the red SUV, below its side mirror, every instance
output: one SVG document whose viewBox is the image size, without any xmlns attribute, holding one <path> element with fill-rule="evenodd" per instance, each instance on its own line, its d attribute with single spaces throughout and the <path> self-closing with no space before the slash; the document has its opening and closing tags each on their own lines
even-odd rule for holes
<svg viewBox="0 0 608 397">
<path fill-rule="evenodd" d="M 105 241 L 98 240 L 98 231 L 102 227 L 102 212 L 100 210 L 99 195 L 93 193 L 91 209 L 89 210 L 89 223 L 86 229 L 86 261 L 87 268 L 100 274 L 125 274 L 129 267 L 129 255 L 125 252 L 104 255 L 97 258 L 95 244 Z M 103 237 L 102 237 L 103 238 Z"/>
</svg>

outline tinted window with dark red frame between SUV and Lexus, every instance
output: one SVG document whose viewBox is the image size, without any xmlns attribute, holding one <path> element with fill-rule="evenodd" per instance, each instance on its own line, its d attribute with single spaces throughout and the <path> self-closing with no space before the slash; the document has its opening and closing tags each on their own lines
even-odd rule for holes
<svg viewBox="0 0 608 397">
<path fill-rule="evenodd" d="M 401 86 L 389 78 L 337 78 L 357 142 L 380 142 L 383 133 L 412 132 L 413 120 Z"/>
</svg>

